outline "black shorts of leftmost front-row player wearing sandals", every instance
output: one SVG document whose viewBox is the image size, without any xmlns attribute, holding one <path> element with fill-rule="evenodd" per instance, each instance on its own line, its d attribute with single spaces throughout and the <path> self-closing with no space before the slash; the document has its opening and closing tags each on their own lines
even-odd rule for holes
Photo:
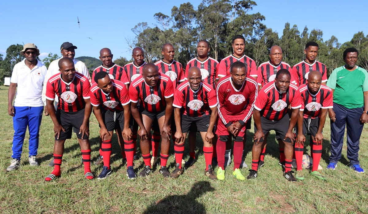
<svg viewBox="0 0 368 214">
<path fill-rule="evenodd" d="M 83 123 L 84 109 L 79 110 L 78 112 L 65 112 L 64 110 L 57 109 L 56 119 L 65 129 L 65 132 L 61 131 L 59 139 L 57 139 L 57 135 L 55 136 L 56 141 L 70 139 L 72 131 L 77 134 L 78 139 L 82 139 L 82 133 L 79 134 L 79 128 Z M 85 134 L 83 139 L 88 139 L 88 136 Z"/>
</svg>

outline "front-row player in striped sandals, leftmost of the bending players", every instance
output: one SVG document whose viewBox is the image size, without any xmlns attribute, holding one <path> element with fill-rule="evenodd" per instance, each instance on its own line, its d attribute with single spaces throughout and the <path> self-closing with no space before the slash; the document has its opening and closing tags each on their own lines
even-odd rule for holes
<svg viewBox="0 0 368 214">
<path fill-rule="evenodd" d="M 87 77 L 75 72 L 70 58 L 62 58 L 58 62 L 60 73 L 52 76 L 46 86 L 46 108 L 54 123 L 54 170 L 45 181 L 60 177 L 60 165 L 64 153 L 64 142 L 71 138 L 72 130 L 77 134 L 81 146 L 84 177 L 93 179 L 90 169 L 91 147 L 89 146 L 89 116 L 92 105 L 89 101 L 91 87 Z M 57 111 L 53 105 L 55 94 L 59 97 Z"/>
</svg>

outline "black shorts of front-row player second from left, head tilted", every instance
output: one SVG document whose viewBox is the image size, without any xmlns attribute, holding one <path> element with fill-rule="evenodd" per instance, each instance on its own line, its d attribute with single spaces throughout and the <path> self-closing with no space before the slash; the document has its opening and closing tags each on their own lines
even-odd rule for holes
<svg viewBox="0 0 368 214">
<path fill-rule="evenodd" d="M 124 111 L 112 111 L 106 110 L 102 112 L 103 123 L 107 128 L 107 131 L 113 131 L 116 129 L 124 130 Z M 132 118 L 129 121 L 129 128 L 133 129 Z"/>
</svg>

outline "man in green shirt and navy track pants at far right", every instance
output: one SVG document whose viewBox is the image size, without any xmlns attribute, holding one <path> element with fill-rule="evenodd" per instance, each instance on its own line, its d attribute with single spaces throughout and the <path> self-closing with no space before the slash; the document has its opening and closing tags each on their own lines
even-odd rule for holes
<svg viewBox="0 0 368 214">
<path fill-rule="evenodd" d="M 347 158 L 350 168 L 364 173 L 359 165 L 359 139 L 364 123 L 368 122 L 368 73 L 358 67 L 358 51 L 347 48 L 343 59 L 345 65 L 333 70 L 327 86 L 332 89 L 333 109 L 331 119 L 331 156 L 327 169 L 335 170 L 341 159 L 345 124 L 347 129 Z"/>
</svg>

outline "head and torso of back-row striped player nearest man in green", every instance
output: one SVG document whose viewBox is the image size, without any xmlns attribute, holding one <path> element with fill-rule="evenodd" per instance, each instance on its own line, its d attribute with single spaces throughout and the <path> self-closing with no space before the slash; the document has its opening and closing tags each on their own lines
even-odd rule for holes
<svg viewBox="0 0 368 214">
<path fill-rule="evenodd" d="M 310 41 L 305 45 L 305 59 L 293 66 L 291 70 L 291 83 L 296 84 L 298 87 L 302 84 L 306 84 L 308 80 L 308 73 L 312 70 L 317 70 L 322 74 L 322 84 L 326 85 L 327 72 L 326 65 L 316 61 L 318 54 L 318 44 L 314 41 Z"/>
</svg>

